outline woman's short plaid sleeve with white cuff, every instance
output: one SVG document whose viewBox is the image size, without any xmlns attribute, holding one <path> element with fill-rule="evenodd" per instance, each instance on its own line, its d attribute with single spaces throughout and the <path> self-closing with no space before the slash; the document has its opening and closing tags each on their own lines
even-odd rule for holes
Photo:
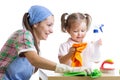
<svg viewBox="0 0 120 80">
<path fill-rule="evenodd" d="M 16 33 L 16 48 L 18 54 L 26 51 L 36 51 L 34 40 L 31 32 L 27 30 L 17 31 Z"/>
</svg>

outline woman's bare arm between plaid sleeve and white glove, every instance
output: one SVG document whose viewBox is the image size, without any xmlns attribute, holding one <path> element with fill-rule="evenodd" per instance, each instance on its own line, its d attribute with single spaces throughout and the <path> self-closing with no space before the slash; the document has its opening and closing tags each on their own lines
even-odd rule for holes
<svg viewBox="0 0 120 80">
<path fill-rule="evenodd" d="M 30 63 L 35 67 L 42 68 L 42 69 L 48 69 L 52 71 L 55 71 L 56 69 L 57 64 L 55 62 L 52 62 L 48 59 L 40 57 L 34 51 L 25 52 L 24 55 L 30 61 Z"/>
</svg>

